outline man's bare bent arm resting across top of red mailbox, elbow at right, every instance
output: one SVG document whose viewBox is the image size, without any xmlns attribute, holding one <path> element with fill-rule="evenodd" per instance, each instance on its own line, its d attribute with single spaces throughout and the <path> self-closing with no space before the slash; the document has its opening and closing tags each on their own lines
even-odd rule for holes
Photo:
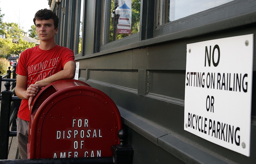
<svg viewBox="0 0 256 164">
<path fill-rule="evenodd" d="M 61 79 L 73 79 L 75 77 L 76 63 L 74 61 L 68 61 L 64 65 L 64 69 L 56 74 L 51 75 L 41 81 L 35 83 L 39 88 L 45 87 L 46 85 Z"/>
</svg>

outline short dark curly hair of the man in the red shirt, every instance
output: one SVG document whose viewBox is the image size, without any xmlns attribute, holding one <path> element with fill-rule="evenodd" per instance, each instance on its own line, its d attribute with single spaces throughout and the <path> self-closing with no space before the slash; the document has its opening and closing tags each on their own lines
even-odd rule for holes
<svg viewBox="0 0 256 164">
<path fill-rule="evenodd" d="M 35 14 L 35 18 L 33 19 L 33 21 L 34 21 L 34 24 L 36 25 L 36 20 L 49 20 L 49 19 L 53 19 L 54 29 L 58 28 L 59 18 L 54 12 L 48 9 L 38 10 Z"/>
</svg>

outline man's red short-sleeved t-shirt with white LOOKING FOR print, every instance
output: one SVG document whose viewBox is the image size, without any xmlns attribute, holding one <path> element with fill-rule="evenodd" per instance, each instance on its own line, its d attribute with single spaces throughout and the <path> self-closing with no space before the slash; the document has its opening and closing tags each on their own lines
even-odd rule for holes
<svg viewBox="0 0 256 164">
<path fill-rule="evenodd" d="M 16 73 L 28 77 L 28 88 L 30 84 L 63 70 L 64 65 L 74 59 L 73 51 L 66 47 L 57 45 L 50 50 L 41 50 L 35 46 L 20 54 Z M 28 99 L 21 100 L 18 117 L 29 121 Z"/>
</svg>

